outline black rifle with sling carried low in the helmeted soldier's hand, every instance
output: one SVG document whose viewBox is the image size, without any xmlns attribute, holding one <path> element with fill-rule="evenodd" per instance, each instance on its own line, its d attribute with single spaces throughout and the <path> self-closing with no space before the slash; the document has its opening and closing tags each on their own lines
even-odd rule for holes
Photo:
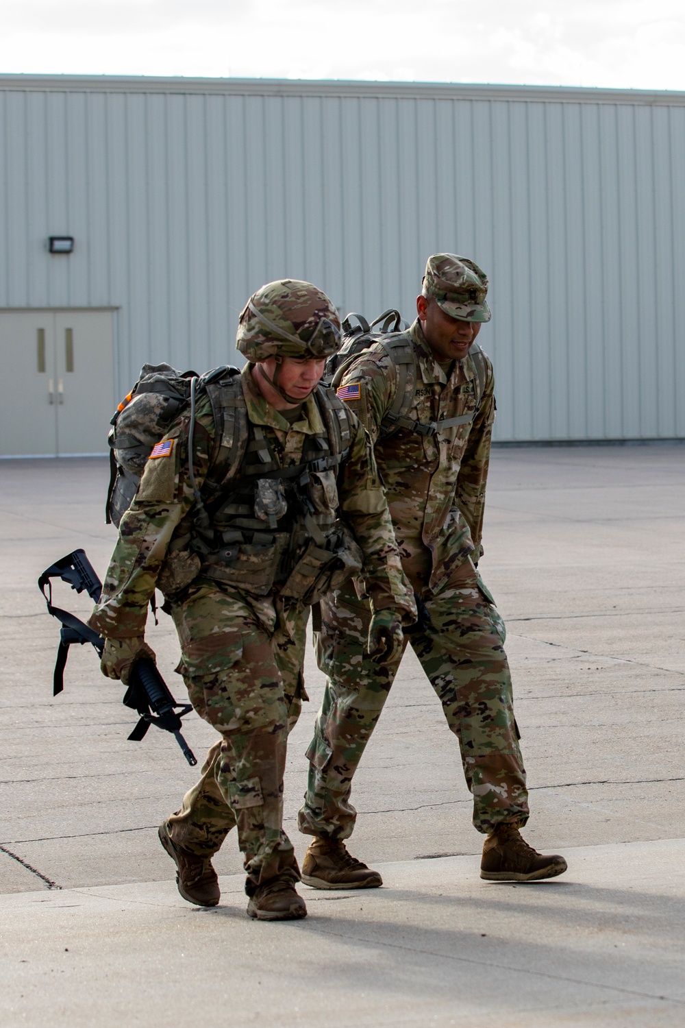
<svg viewBox="0 0 685 1028">
<path fill-rule="evenodd" d="M 69 647 L 74 642 L 78 642 L 80 646 L 83 646 L 84 642 L 90 642 L 98 656 L 102 657 L 105 639 L 73 614 L 52 605 L 50 579 L 53 578 L 61 578 L 63 582 L 68 582 L 72 589 L 76 589 L 76 592 L 83 592 L 85 589 L 96 603 L 100 599 L 103 587 L 84 550 L 74 550 L 73 553 L 68 553 L 62 560 L 56 560 L 47 571 L 44 571 L 38 579 L 38 588 L 45 597 L 48 613 L 62 622 L 60 647 L 52 678 L 52 695 L 56 696 L 65 687 L 64 671 L 69 656 Z M 47 592 L 45 587 L 47 587 Z M 165 732 L 170 732 L 176 737 L 176 741 L 183 750 L 183 756 L 191 767 L 195 767 L 197 760 L 181 735 L 183 727 L 181 719 L 192 710 L 192 705 L 176 702 L 153 660 L 143 657 L 134 663 L 128 676 L 128 688 L 122 702 L 132 710 L 138 710 L 141 715 L 141 720 L 128 736 L 130 740 L 140 742 L 150 725 L 155 725 L 157 728 L 164 729 Z"/>
</svg>

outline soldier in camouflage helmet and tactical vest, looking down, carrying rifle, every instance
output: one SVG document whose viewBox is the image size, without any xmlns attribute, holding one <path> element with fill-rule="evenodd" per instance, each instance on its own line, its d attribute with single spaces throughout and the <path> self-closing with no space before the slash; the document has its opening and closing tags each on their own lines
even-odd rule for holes
<svg viewBox="0 0 685 1028">
<path fill-rule="evenodd" d="M 237 825 L 248 913 L 303 917 L 282 830 L 290 729 L 306 699 L 309 608 L 360 576 L 373 610 L 365 647 L 402 650 L 416 618 L 373 450 L 357 418 L 318 384 L 340 346 L 338 314 L 309 283 L 269 283 L 240 316 L 249 363 L 218 369 L 155 446 L 124 514 L 100 603 L 103 672 L 126 682 L 155 588 L 181 642 L 190 699 L 218 733 L 200 780 L 159 829 L 190 903 L 220 898 L 212 856 Z M 159 455 L 157 455 L 159 454 Z"/>
</svg>

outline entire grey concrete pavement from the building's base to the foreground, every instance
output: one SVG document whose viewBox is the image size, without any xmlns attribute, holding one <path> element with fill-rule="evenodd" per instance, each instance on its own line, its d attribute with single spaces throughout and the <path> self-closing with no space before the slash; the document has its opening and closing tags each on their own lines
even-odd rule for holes
<svg viewBox="0 0 685 1028">
<path fill-rule="evenodd" d="M 353 1009 L 347 1023 L 363 1025 L 475 1024 L 505 1009 L 507 1025 L 685 1021 L 668 1005 L 683 998 L 684 464 L 679 446 L 493 454 L 483 573 L 508 626 L 531 787 L 526 836 L 539 849 L 564 852 L 568 874 L 516 891 L 480 882 L 481 839 L 457 747 L 409 653 L 353 794 L 352 851 L 384 864 L 389 887 L 364 893 L 364 911 L 357 894 L 336 902 L 337 893 L 305 889 L 310 917 L 274 926 L 244 918 L 230 837 L 216 861 L 228 876 L 226 908 L 198 913 L 178 897 L 155 831 L 194 772 L 165 733 L 126 741 L 136 715 L 121 706 L 120 686 L 99 674 L 91 650 L 73 653 L 66 691 L 51 697 L 58 626 L 35 583 L 77 546 L 103 574 L 114 541 L 102 516 L 106 463 L 0 462 L 0 892 L 7 893 L 0 916 L 12 1004 L 29 966 L 11 961 L 25 942 L 37 947 L 27 1002 L 3 1023 L 78 1024 L 81 1017 L 86 1024 L 88 1011 L 89 1023 L 107 1026 L 161 1023 L 154 976 L 166 984 L 183 972 L 191 959 L 186 938 L 192 959 L 201 954 L 217 971 L 203 978 L 212 993 L 207 1024 L 219 1024 L 220 1011 L 222 1024 L 257 1023 L 258 1011 L 273 1014 L 283 996 L 290 1005 L 275 1021 L 284 1025 L 311 1024 L 321 997 L 334 1025 L 343 1023 L 330 1020 L 338 1008 L 341 1019 Z M 56 601 L 88 610 L 66 586 Z M 151 626 L 149 638 L 180 698 L 168 619 Z M 312 702 L 292 736 L 286 780 L 286 827 L 300 856 L 303 751 L 322 689 L 311 656 L 306 677 Z M 213 738 L 195 717 L 184 732 L 198 757 Z M 103 888 L 116 910 L 98 907 Z M 71 969 L 52 959 L 64 951 L 54 945 L 67 925 L 83 946 Z M 393 948 L 403 932 L 406 952 Z M 483 959 L 479 947 L 493 935 L 497 948 Z M 474 948 L 481 962 L 467 964 Z M 289 990 L 282 976 L 293 962 L 301 988 Z M 256 986 L 251 967 L 262 974 L 265 966 Z M 119 967 L 138 967 L 132 985 Z M 63 978 L 68 994 L 55 985 Z M 349 995 L 337 1005 L 346 981 L 353 1007 Z M 636 995 L 602 991 L 632 982 Z M 43 993 L 63 997 L 59 1011 L 49 1007 L 51 1020 Z M 113 1013 L 120 1009 L 123 1020 Z"/>
</svg>

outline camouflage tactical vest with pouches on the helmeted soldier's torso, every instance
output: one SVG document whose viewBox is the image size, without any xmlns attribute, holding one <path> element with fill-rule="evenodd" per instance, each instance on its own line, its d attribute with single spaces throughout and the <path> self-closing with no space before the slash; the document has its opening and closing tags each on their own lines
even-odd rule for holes
<svg viewBox="0 0 685 1028">
<path fill-rule="evenodd" d="M 175 534 L 158 585 L 167 597 L 197 576 L 264 596 L 315 603 L 361 570 L 361 551 L 338 518 L 337 472 L 349 453 L 350 420 L 333 391 L 314 402 L 326 435 L 306 436 L 302 463 L 281 467 L 273 440 L 253 425 L 234 368 L 203 376 L 215 421 L 200 490 L 192 469 L 196 383 L 191 391 L 189 480 L 195 503 Z"/>
</svg>

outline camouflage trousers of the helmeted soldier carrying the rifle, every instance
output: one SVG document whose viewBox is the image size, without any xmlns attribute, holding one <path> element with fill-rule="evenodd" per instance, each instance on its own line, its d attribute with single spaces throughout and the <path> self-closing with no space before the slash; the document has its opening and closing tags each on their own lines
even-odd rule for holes
<svg viewBox="0 0 685 1028">
<path fill-rule="evenodd" d="M 282 830 L 282 792 L 288 734 L 304 694 L 309 615 L 308 609 L 291 610 L 286 619 L 276 599 L 267 601 L 265 618 L 265 601 L 257 603 L 202 585 L 173 610 L 190 701 L 221 739 L 210 748 L 200 780 L 168 818 L 168 831 L 184 849 L 212 855 L 237 825 L 249 893 L 277 875 L 300 877 Z"/>
</svg>

